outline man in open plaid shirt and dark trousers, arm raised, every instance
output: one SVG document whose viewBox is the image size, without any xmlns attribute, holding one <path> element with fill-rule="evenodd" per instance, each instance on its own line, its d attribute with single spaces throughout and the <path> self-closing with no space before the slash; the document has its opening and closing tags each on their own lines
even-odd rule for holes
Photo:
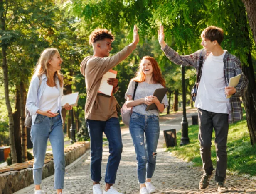
<svg viewBox="0 0 256 194">
<path fill-rule="evenodd" d="M 220 44 L 224 38 L 223 30 L 215 26 L 204 29 L 201 34 L 204 50 L 207 52 L 202 63 L 202 74 L 195 107 L 199 117 L 199 142 L 204 174 L 199 189 L 205 190 L 214 170 L 211 160 L 212 131 L 215 130 L 215 148 L 217 167 L 215 180 L 219 193 L 228 191 L 224 185 L 227 168 L 226 144 L 229 123 L 239 121 L 243 117 L 240 96 L 246 91 L 248 80 L 241 70 L 240 60 L 228 51 L 222 50 Z M 193 66 L 197 74 L 201 50 L 190 55 L 180 56 L 165 43 L 164 29 L 160 26 L 158 41 L 161 49 L 170 61 L 177 65 Z M 241 74 L 236 87 L 229 86 L 229 79 Z M 226 95 L 232 95 L 226 99 Z"/>
</svg>

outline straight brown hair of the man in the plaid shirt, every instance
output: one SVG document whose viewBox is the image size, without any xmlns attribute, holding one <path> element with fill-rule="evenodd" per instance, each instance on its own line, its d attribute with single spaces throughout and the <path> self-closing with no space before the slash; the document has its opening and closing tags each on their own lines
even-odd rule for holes
<svg viewBox="0 0 256 194">
<path fill-rule="evenodd" d="M 224 34 L 221 28 L 218 28 L 216 26 L 209 26 L 204 29 L 204 31 L 202 31 L 201 37 L 210 41 L 216 40 L 220 45 L 223 41 Z"/>
</svg>

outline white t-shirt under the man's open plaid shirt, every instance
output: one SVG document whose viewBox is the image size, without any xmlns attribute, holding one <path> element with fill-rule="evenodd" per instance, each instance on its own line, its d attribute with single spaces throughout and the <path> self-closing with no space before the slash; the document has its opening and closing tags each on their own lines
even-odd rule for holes
<svg viewBox="0 0 256 194">
<path fill-rule="evenodd" d="M 225 95 L 225 77 L 223 57 L 212 53 L 206 58 L 202 66 L 202 77 L 196 98 L 196 108 L 213 113 L 229 113 L 229 99 Z"/>
</svg>

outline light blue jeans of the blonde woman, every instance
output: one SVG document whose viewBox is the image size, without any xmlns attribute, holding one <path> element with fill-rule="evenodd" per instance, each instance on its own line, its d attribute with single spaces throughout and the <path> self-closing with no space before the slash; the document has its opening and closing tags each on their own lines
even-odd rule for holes
<svg viewBox="0 0 256 194">
<path fill-rule="evenodd" d="M 34 125 L 30 131 L 31 141 L 33 143 L 34 166 L 33 178 L 34 184 L 39 185 L 42 182 L 42 173 L 44 158 L 47 148 L 47 140 L 50 139 L 52 145 L 54 162 L 54 189 L 63 189 L 65 175 L 64 158 L 64 135 L 62 129 L 62 119 L 60 115 L 56 117 L 47 117 L 38 114 Z"/>
</svg>

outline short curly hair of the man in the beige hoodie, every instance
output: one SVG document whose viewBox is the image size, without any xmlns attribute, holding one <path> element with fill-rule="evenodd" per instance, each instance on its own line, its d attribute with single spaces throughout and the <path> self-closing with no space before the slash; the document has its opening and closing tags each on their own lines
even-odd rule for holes
<svg viewBox="0 0 256 194">
<path fill-rule="evenodd" d="M 89 36 L 89 44 L 92 45 L 96 41 L 104 40 L 105 38 L 111 39 L 114 41 L 114 36 L 107 29 L 95 29 Z"/>
</svg>

